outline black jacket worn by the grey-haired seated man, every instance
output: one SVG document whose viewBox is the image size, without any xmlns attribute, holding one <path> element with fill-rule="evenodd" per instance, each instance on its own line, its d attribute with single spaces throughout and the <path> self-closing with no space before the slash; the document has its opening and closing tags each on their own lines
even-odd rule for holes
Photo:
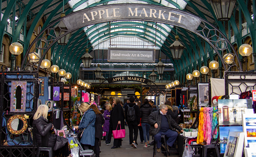
<svg viewBox="0 0 256 157">
<path fill-rule="evenodd" d="M 165 115 L 168 124 L 169 124 L 169 129 L 174 130 L 177 129 L 179 131 L 182 130 L 182 128 L 172 119 L 171 115 Z M 160 111 L 154 111 L 148 116 L 148 124 L 150 124 L 150 129 L 149 129 L 149 134 L 150 135 L 156 135 L 161 128 L 161 121 L 162 121 L 162 116 Z M 155 123 L 157 123 L 158 127 L 154 128 Z"/>
</svg>

